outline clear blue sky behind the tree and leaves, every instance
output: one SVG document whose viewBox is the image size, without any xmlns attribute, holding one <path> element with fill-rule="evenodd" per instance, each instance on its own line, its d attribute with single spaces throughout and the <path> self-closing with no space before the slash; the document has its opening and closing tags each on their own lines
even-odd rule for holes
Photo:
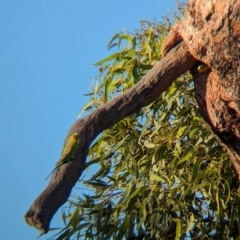
<svg viewBox="0 0 240 240">
<path fill-rule="evenodd" d="M 169 9 L 175 0 L 0 0 L 1 239 L 39 236 L 23 216 L 47 185 L 110 38 Z M 50 227 L 61 226 L 58 212 Z"/>
</svg>

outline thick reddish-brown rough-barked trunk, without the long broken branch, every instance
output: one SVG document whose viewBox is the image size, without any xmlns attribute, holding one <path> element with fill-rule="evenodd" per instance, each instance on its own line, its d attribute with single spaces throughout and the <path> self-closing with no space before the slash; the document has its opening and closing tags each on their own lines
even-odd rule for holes
<svg viewBox="0 0 240 240">
<path fill-rule="evenodd" d="M 196 100 L 240 176 L 240 2 L 191 0 L 165 40 L 163 54 L 181 41 L 210 67 L 204 73 L 192 70 Z"/>
</svg>

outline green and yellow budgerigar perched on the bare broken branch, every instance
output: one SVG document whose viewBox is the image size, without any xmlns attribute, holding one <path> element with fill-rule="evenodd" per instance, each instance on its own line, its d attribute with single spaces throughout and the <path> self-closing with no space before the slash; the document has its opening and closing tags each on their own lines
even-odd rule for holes
<svg viewBox="0 0 240 240">
<path fill-rule="evenodd" d="M 79 144 L 79 136 L 77 133 L 73 133 L 69 138 L 64 146 L 61 157 L 56 163 L 56 167 L 52 170 L 52 172 L 48 175 L 46 179 L 49 178 L 49 176 L 61 165 L 70 162 L 72 158 L 74 158 L 77 149 L 78 149 L 78 144 Z"/>
</svg>

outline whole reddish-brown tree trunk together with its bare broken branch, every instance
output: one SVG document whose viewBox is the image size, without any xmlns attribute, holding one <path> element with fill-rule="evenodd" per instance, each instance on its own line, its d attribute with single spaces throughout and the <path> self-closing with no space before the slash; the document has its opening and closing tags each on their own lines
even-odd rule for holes
<svg viewBox="0 0 240 240">
<path fill-rule="evenodd" d="M 77 154 L 71 164 L 62 165 L 53 174 L 46 189 L 25 214 L 27 223 L 46 233 L 53 215 L 67 201 L 79 179 L 94 138 L 156 100 L 188 69 L 193 74 L 201 115 L 228 149 L 240 175 L 239 40 L 237 0 L 191 0 L 183 19 L 164 42 L 165 57 L 132 89 L 73 124 L 68 136 L 73 132 L 79 134 Z M 210 68 L 198 71 L 194 66 L 199 61 Z"/>
</svg>

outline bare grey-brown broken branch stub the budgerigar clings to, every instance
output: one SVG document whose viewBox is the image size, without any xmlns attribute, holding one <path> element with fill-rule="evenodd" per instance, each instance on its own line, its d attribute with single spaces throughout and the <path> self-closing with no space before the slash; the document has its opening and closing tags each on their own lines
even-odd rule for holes
<svg viewBox="0 0 240 240">
<path fill-rule="evenodd" d="M 156 100 L 177 77 L 196 63 L 186 45 L 181 43 L 156 63 L 136 86 L 75 122 L 68 136 L 73 132 L 79 133 L 80 144 L 77 154 L 71 163 L 62 165 L 53 174 L 48 186 L 25 214 L 26 222 L 42 233 L 48 232 L 53 215 L 67 201 L 84 169 L 88 148 L 95 137 L 111 125 Z"/>
</svg>

